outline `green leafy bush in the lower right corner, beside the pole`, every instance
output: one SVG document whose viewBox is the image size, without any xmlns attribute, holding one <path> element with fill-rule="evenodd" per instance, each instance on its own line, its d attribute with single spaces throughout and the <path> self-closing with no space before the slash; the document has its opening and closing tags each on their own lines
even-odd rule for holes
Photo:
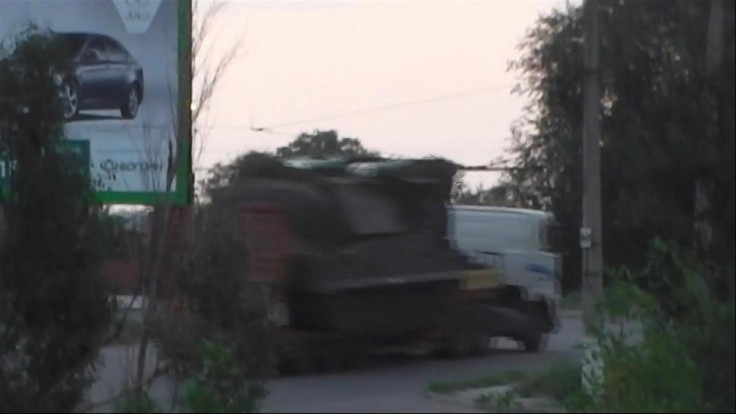
<svg viewBox="0 0 736 414">
<path fill-rule="evenodd" d="M 596 330 L 596 357 L 605 367 L 593 392 L 600 398 L 573 395 L 569 408 L 733 412 L 736 320 L 733 268 L 728 269 L 703 266 L 656 241 L 641 272 L 616 272 L 599 304 L 604 326 L 640 323 L 641 340 L 631 341 L 615 329 Z M 730 286 L 716 290 L 728 272 Z"/>
</svg>

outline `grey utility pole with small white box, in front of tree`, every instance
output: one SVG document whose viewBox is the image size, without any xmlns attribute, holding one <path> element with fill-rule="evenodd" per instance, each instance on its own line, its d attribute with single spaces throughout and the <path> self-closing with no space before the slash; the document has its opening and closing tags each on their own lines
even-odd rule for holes
<svg viewBox="0 0 736 414">
<path fill-rule="evenodd" d="M 583 312 L 597 322 L 595 302 L 603 290 L 603 237 L 601 224 L 601 126 L 598 83 L 598 0 L 583 3 Z"/>
</svg>

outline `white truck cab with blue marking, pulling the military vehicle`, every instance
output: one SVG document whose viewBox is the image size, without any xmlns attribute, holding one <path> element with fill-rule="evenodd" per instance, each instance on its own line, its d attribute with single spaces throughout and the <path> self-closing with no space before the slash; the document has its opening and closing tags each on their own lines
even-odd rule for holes
<svg viewBox="0 0 736 414">
<path fill-rule="evenodd" d="M 448 210 L 450 243 L 477 264 L 497 271 L 501 286 L 498 302 L 538 307 L 542 309 L 540 316 L 556 320 L 562 259 L 550 251 L 553 215 L 470 205 L 450 205 Z M 507 336 L 529 340 L 513 330 Z M 537 338 L 531 339 L 534 342 Z"/>
</svg>

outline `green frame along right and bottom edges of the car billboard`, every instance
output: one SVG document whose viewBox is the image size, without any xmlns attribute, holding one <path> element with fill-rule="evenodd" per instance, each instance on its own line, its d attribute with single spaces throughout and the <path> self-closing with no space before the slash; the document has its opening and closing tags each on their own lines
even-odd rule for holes
<svg viewBox="0 0 736 414">
<path fill-rule="evenodd" d="M 178 107 L 176 188 L 173 191 L 127 192 L 97 191 L 103 204 L 190 205 L 194 194 L 192 173 L 192 1 L 178 0 Z"/>
</svg>

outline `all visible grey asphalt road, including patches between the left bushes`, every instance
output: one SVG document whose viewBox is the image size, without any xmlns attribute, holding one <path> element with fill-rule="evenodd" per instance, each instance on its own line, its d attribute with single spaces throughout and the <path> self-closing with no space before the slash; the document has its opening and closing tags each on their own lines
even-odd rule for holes
<svg viewBox="0 0 736 414">
<path fill-rule="evenodd" d="M 267 413 L 411 413 L 411 412 L 473 412 L 463 407 L 449 406 L 425 395 L 427 383 L 433 380 L 454 380 L 491 375 L 509 369 L 535 370 L 563 359 L 579 359 L 576 348 L 583 339 L 580 315 L 561 316 L 560 329 L 550 336 L 547 349 L 525 353 L 515 342 L 499 340 L 496 349 L 479 358 L 439 359 L 431 356 L 399 354 L 384 356 L 370 368 L 349 372 L 279 378 L 268 384 L 269 396 L 262 411 Z M 155 360 L 155 350 L 149 361 Z M 113 412 L 114 404 L 99 404 L 120 393 L 124 383 L 133 378 L 134 347 L 110 347 L 102 352 L 103 365 L 89 399 L 98 403 L 94 412 Z M 149 364 L 149 371 L 153 367 Z M 156 380 L 150 394 L 162 407 L 169 407 L 173 387 L 166 378 Z"/>
</svg>

